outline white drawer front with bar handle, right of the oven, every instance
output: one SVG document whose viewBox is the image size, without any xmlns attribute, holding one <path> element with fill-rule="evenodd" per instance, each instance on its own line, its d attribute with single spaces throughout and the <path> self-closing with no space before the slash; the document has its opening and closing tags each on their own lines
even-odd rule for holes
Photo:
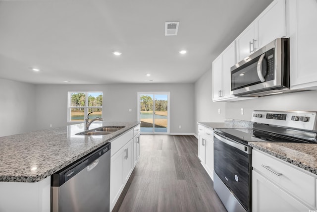
<svg viewBox="0 0 317 212">
<path fill-rule="evenodd" d="M 253 169 L 300 201 L 316 208 L 316 177 L 314 174 L 268 155 L 252 150 Z"/>
</svg>

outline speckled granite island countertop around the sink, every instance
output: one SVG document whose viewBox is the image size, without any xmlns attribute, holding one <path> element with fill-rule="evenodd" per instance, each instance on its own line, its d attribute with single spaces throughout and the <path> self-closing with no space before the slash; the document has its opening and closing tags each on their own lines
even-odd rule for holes
<svg viewBox="0 0 317 212">
<path fill-rule="evenodd" d="M 125 126 L 103 136 L 76 136 L 84 123 L 0 137 L 0 182 L 38 182 L 137 126 L 139 122 L 94 122 Z"/>
</svg>

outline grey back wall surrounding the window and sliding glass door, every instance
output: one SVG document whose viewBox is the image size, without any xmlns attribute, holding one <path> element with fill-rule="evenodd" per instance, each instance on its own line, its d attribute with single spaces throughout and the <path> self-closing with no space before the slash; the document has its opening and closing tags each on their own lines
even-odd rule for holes
<svg viewBox="0 0 317 212">
<path fill-rule="evenodd" d="M 36 85 L 37 128 L 66 126 L 68 91 L 103 91 L 105 121 L 137 121 L 137 92 L 170 91 L 171 133 L 194 133 L 194 84 Z M 131 108 L 132 112 L 128 112 Z M 178 126 L 182 128 L 179 129 Z"/>
</svg>

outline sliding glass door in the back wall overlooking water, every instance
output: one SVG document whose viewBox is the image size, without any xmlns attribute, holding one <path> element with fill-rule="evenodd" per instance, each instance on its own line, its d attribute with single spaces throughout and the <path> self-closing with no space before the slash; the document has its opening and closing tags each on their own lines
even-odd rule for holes
<svg viewBox="0 0 317 212">
<path fill-rule="evenodd" d="M 138 92 L 138 120 L 141 133 L 167 134 L 170 92 Z"/>
</svg>

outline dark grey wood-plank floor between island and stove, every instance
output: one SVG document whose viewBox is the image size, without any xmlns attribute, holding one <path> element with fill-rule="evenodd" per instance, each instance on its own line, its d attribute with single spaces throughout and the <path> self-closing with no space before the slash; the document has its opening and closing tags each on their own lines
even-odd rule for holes
<svg viewBox="0 0 317 212">
<path fill-rule="evenodd" d="M 194 136 L 141 135 L 140 159 L 113 212 L 226 212 Z"/>
</svg>

